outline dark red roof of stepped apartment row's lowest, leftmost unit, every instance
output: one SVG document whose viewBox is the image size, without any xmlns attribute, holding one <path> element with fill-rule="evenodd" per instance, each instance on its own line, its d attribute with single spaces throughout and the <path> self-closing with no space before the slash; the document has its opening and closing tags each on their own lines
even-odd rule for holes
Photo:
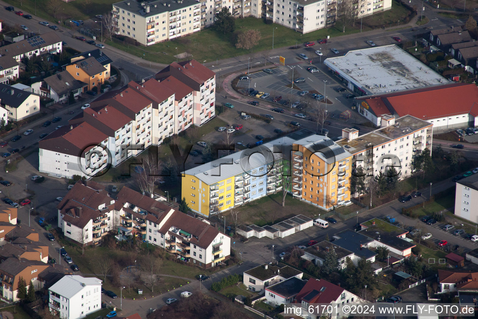
<svg viewBox="0 0 478 319">
<path fill-rule="evenodd" d="M 65 125 L 53 131 L 39 142 L 39 148 L 81 157 L 84 152 L 94 147 L 93 145 L 98 145 L 107 138 L 105 133 L 87 122 L 82 122 Z"/>
</svg>

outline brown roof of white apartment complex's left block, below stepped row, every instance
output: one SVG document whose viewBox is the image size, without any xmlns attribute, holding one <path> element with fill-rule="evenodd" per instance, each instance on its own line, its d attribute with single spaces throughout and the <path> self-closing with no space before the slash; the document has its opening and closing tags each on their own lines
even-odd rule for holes
<svg viewBox="0 0 478 319">
<path fill-rule="evenodd" d="M 105 204 L 106 209 L 99 210 L 102 204 Z M 114 199 L 105 190 L 96 190 L 77 182 L 56 208 L 60 210 L 63 220 L 83 229 L 90 220 L 112 210 Z"/>
</svg>

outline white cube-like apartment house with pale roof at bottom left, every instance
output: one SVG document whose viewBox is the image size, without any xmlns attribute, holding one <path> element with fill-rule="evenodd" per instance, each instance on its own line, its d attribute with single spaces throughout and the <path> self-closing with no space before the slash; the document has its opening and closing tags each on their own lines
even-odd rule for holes
<svg viewBox="0 0 478 319">
<path fill-rule="evenodd" d="M 80 319 L 101 309 L 101 280 L 66 275 L 48 289 L 48 308 L 61 319 Z"/>
</svg>

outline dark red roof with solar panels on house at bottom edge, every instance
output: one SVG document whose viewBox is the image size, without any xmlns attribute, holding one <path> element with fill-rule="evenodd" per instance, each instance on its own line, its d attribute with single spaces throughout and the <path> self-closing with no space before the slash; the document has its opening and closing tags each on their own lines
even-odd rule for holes
<svg viewBox="0 0 478 319">
<path fill-rule="evenodd" d="M 344 288 L 334 285 L 325 279 L 310 278 L 304 288 L 297 294 L 297 302 L 329 304 L 340 297 Z"/>
</svg>

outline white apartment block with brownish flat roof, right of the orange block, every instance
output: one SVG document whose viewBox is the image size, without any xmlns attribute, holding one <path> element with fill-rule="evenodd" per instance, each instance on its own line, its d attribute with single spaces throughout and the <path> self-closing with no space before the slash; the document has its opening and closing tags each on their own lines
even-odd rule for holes
<svg viewBox="0 0 478 319">
<path fill-rule="evenodd" d="M 386 173 L 389 167 L 400 178 L 413 171 L 413 158 L 428 148 L 432 150 L 433 124 L 405 115 L 395 119 L 383 116 L 381 127 L 359 136 L 356 129 L 342 129 L 343 139 L 337 144 L 352 154 L 352 169 L 362 166 L 367 176 Z"/>
</svg>

